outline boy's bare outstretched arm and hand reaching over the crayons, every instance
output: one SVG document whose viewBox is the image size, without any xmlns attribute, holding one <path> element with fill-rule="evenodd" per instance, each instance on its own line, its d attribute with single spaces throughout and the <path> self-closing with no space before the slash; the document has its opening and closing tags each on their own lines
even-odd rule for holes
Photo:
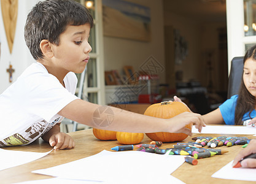
<svg viewBox="0 0 256 184">
<path fill-rule="evenodd" d="M 205 126 L 202 116 L 197 113 L 184 112 L 176 117 L 163 119 L 81 99 L 70 102 L 58 114 L 93 128 L 122 132 L 184 132 L 191 135 L 191 130 L 185 128 L 185 125 L 193 123 L 199 131 Z"/>
</svg>

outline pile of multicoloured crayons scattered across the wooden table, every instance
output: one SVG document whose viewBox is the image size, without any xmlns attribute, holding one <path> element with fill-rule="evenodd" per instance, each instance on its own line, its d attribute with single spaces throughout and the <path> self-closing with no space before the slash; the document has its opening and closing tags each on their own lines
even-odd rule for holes
<svg viewBox="0 0 256 184">
<path fill-rule="evenodd" d="M 196 159 L 208 158 L 214 155 L 222 155 L 227 153 L 227 150 L 217 149 L 226 145 L 231 147 L 233 145 L 247 145 L 250 139 L 247 137 L 193 137 L 195 142 L 177 142 L 172 148 L 161 149 L 159 148 L 163 143 L 160 141 L 152 141 L 150 144 L 138 144 L 137 151 L 145 151 L 149 153 L 166 154 L 166 155 L 190 155 L 185 157 L 187 163 L 196 165 Z M 122 148 L 121 148 L 122 147 Z M 133 145 L 125 145 L 121 147 L 114 147 L 112 150 L 133 150 Z M 203 148 L 208 147 L 208 148 Z M 215 149 L 216 148 L 216 149 Z M 192 157 L 191 157 L 192 156 Z"/>
</svg>

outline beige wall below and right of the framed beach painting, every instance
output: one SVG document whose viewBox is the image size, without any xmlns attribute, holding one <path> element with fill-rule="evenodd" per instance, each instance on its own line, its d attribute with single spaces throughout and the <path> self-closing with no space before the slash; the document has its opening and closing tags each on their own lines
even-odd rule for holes
<svg viewBox="0 0 256 184">
<path fill-rule="evenodd" d="M 133 66 L 134 71 L 138 71 L 141 64 L 150 56 L 153 56 L 162 66 L 165 66 L 163 1 L 129 1 L 150 8 L 151 40 L 150 42 L 141 42 L 104 36 L 105 71 L 117 69 L 122 74 L 123 66 Z M 165 70 L 158 74 L 160 75 L 160 82 L 165 82 Z"/>
</svg>

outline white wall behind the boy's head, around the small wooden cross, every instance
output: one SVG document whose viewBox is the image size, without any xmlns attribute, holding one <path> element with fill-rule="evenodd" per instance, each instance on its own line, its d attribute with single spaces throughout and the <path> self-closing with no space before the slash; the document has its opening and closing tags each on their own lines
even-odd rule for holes
<svg viewBox="0 0 256 184">
<path fill-rule="evenodd" d="M 9 47 L 6 39 L 6 31 L 4 29 L 4 23 L 2 20 L 2 12 L 0 8 L 0 40 L 1 40 L 1 56 L 0 56 L 0 93 L 4 91 L 11 83 L 9 83 L 9 73 L 6 69 L 9 68 L 9 64 L 15 69 L 13 73 L 13 81 L 25 70 L 29 64 L 34 62 L 28 47 L 26 47 L 24 39 L 24 26 L 26 22 L 26 16 L 29 10 L 39 0 L 19 0 L 18 1 L 18 15 L 17 25 L 14 37 L 14 45 L 12 48 L 12 54 L 10 54 Z M 0 4 L 1 7 L 1 4 Z"/>
</svg>

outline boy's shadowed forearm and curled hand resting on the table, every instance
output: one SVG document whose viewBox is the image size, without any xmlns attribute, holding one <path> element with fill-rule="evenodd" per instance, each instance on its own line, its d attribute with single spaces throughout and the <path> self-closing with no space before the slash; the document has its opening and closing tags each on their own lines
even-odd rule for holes
<svg viewBox="0 0 256 184">
<path fill-rule="evenodd" d="M 75 142 L 72 137 L 64 132 L 60 132 L 60 123 L 57 123 L 52 129 L 45 133 L 42 139 L 44 139 L 45 142 L 49 142 L 55 150 L 71 149 L 75 147 Z"/>
</svg>

